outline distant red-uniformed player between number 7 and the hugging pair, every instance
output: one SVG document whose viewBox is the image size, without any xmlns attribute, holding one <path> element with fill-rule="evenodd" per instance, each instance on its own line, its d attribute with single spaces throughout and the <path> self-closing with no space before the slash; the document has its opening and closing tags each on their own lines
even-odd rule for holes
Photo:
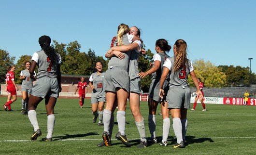
<svg viewBox="0 0 256 155">
<path fill-rule="evenodd" d="M 76 87 L 76 90 L 75 90 L 75 94 L 76 94 L 76 91 L 78 90 L 78 96 L 79 96 L 79 104 L 80 104 L 80 107 L 83 108 L 83 105 L 85 103 L 85 93 L 87 94 L 88 92 L 88 87 L 87 87 L 87 83 L 85 82 L 85 78 L 82 77 L 80 78 L 81 81 L 78 82 L 77 84 L 77 87 Z"/>
</svg>

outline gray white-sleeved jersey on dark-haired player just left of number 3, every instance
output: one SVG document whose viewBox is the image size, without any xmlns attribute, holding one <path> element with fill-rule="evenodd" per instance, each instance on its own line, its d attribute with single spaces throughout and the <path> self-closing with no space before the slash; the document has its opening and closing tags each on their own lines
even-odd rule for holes
<svg viewBox="0 0 256 155">
<path fill-rule="evenodd" d="M 153 65 L 155 64 L 156 61 L 160 61 L 161 64 L 160 64 L 160 67 L 157 69 L 157 71 L 152 74 L 152 76 L 151 76 L 152 80 L 161 78 L 162 73 L 163 73 L 163 65 L 164 65 L 164 62 L 166 61 L 167 58 L 170 58 L 170 56 L 168 54 L 166 54 L 165 52 L 159 52 L 159 53 L 154 54 L 154 56 L 153 56 L 153 60 L 154 60 Z M 168 78 L 169 78 L 169 75 L 167 76 L 166 79 L 168 79 Z"/>
</svg>

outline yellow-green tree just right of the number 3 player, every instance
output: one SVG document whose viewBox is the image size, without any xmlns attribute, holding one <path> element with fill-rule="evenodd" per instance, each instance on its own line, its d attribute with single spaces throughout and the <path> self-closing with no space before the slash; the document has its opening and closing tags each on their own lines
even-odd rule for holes
<svg viewBox="0 0 256 155">
<path fill-rule="evenodd" d="M 225 87 L 226 75 L 218 67 L 211 62 L 204 60 L 195 60 L 193 63 L 195 74 L 197 78 L 201 78 L 205 87 Z M 191 77 L 188 78 L 190 86 L 195 86 Z"/>
</svg>

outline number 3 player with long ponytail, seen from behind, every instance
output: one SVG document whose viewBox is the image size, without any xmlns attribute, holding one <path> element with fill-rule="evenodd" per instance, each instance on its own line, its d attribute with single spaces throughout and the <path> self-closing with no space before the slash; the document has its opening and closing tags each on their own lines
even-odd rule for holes
<svg viewBox="0 0 256 155">
<path fill-rule="evenodd" d="M 164 69 L 160 80 L 159 96 L 167 95 L 168 108 L 171 111 L 172 127 L 177 138 L 174 148 L 185 147 L 185 135 L 187 130 L 187 109 L 190 108 L 191 92 L 188 88 L 188 75 L 192 78 L 196 89 L 197 96 L 201 100 L 202 92 L 199 88 L 198 80 L 194 72 L 192 62 L 186 58 L 186 42 L 178 39 L 173 45 L 174 56 L 168 58 L 164 63 Z M 165 80 L 170 74 L 168 93 L 163 89 Z"/>
</svg>

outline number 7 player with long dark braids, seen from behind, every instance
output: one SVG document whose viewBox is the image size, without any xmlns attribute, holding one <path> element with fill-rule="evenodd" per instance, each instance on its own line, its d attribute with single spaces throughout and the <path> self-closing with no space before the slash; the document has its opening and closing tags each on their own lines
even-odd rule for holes
<svg viewBox="0 0 256 155">
<path fill-rule="evenodd" d="M 47 112 L 47 136 L 42 141 L 52 141 L 52 134 L 55 124 L 54 106 L 57 102 L 58 93 L 61 91 L 60 55 L 50 46 L 51 38 L 42 36 L 39 38 L 41 51 L 35 52 L 32 56 L 30 77 L 34 77 L 34 70 L 38 65 L 37 82 L 32 88 L 28 101 L 28 118 L 34 128 L 31 141 L 42 135 L 37 121 L 37 105 L 45 99 Z"/>
</svg>

